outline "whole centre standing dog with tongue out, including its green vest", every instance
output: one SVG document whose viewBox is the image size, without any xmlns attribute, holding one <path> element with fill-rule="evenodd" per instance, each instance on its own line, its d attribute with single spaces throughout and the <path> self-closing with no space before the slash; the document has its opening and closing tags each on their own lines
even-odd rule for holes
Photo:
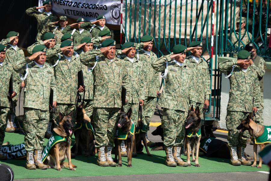
<svg viewBox="0 0 271 181">
<path fill-rule="evenodd" d="M 121 141 L 125 139 L 127 144 L 127 160 L 128 167 L 132 167 L 132 154 L 134 150 L 134 141 L 135 141 L 135 125 L 131 120 L 132 109 L 130 108 L 127 113 L 122 111 L 118 118 L 116 138 L 115 138 L 115 159 L 117 163 L 117 158 L 119 157 L 118 167 L 122 166 L 121 154 L 120 154 L 120 144 Z"/>
</svg>

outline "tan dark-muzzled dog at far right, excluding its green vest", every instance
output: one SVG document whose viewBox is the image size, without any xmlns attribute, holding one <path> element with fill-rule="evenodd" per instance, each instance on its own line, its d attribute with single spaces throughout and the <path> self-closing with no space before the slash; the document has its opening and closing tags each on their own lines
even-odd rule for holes
<svg viewBox="0 0 271 181">
<path fill-rule="evenodd" d="M 253 141 L 253 152 L 254 152 L 254 162 L 251 165 L 251 167 L 256 167 L 257 164 L 257 144 L 255 144 L 255 139 L 258 138 L 263 134 L 264 127 L 262 125 L 257 124 L 252 120 L 253 118 L 253 113 L 249 113 L 247 118 L 245 120 L 242 120 L 241 124 L 236 128 L 240 132 L 244 132 L 245 130 L 248 130 L 249 134 L 252 136 L 252 141 Z M 269 143 L 263 143 L 263 144 L 258 144 L 260 146 L 261 151 Z M 259 165 L 257 168 L 262 167 L 262 158 L 260 157 L 259 159 Z"/>
</svg>

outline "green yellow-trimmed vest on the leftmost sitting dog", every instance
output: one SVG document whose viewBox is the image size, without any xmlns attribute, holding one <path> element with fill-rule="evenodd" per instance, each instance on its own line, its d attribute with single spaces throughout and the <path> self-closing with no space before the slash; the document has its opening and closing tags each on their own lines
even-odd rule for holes
<svg viewBox="0 0 271 181">
<path fill-rule="evenodd" d="M 66 137 L 59 136 L 53 131 L 53 134 L 48 139 L 46 147 L 42 151 L 42 162 L 44 162 L 49 154 L 50 149 L 57 143 L 66 141 Z"/>
</svg>

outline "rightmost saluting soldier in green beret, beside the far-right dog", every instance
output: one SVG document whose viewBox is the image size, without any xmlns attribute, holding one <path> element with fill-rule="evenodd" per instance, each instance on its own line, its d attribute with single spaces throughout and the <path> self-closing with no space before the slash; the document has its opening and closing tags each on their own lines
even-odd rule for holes
<svg viewBox="0 0 271 181">
<path fill-rule="evenodd" d="M 237 60 L 227 60 L 219 64 L 219 70 L 226 74 L 230 81 L 229 103 L 227 106 L 226 126 L 228 146 L 232 165 L 251 165 L 244 156 L 246 138 L 237 130 L 237 126 L 252 111 L 257 112 L 260 106 L 260 86 L 257 71 L 249 66 L 250 53 L 238 52 Z M 236 151 L 236 147 L 241 147 Z M 238 160 L 239 159 L 239 160 Z"/>
</svg>

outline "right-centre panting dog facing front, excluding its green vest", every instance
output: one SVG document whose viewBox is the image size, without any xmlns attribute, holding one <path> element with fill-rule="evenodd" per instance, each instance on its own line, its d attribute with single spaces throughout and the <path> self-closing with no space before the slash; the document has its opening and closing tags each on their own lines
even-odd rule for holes
<svg viewBox="0 0 271 181">
<path fill-rule="evenodd" d="M 188 129 L 190 127 L 192 128 L 193 132 L 198 132 L 198 130 L 201 128 L 201 113 L 198 106 L 195 111 L 194 111 L 193 105 L 191 106 L 188 116 L 185 120 L 185 129 Z M 201 136 L 198 137 L 197 135 L 192 135 L 190 138 L 188 138 L 185 135 L 188 166 L 191 166 L 190 145 L 192 144 L 192 145 L 195 145 L 195 147 L 192 146 L 192 161 L 193 162 L 195 161 L 196 167 L 200 167 L 200 164 L 198 164 L 198 152 L 199 152 L 200 140 L 201 140 Z M 195 150 L 196 150 L 196 159 L 194 155 Z"/>
</svg>

